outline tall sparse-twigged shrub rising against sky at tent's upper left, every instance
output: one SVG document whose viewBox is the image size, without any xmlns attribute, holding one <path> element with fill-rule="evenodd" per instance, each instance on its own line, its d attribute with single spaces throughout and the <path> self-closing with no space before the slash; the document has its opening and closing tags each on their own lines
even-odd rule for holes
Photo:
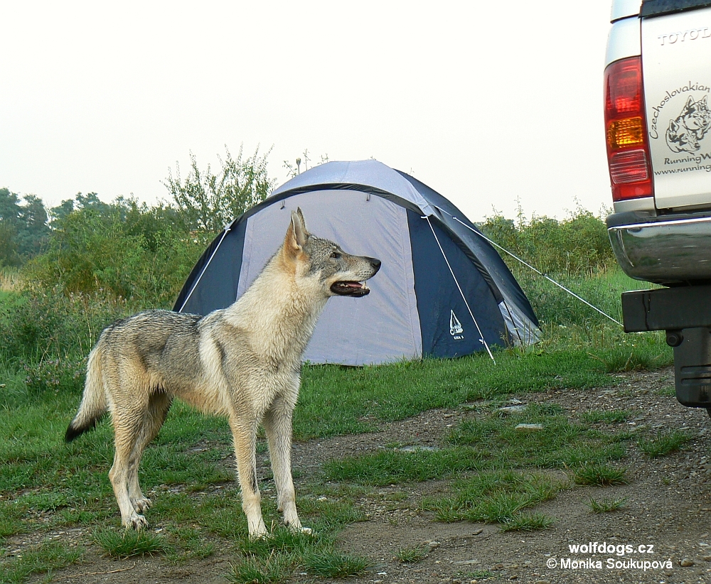
<svg viewBox="0 0 711 584">
<path fill-rule="evenodd" d="M 225 159 L 218 156 L 220 171 L 214 174 L 210 165 L 203 172 L 191 152 L 191 168 L 185 180 L 180 167 L 176 173 L 168 169 L 163 183 L 171 193 L 178 215 L 188 229 L 219 232 L 232 219 L 257 203 L 262 202 L 274 188 L 274 180 L 267 173 L 267 156 L 260 156 L 259 148 L 248 158 L 242 158 L 242 146 L 237 158 L 232 158 L 225 146 Z"/>
</svg>

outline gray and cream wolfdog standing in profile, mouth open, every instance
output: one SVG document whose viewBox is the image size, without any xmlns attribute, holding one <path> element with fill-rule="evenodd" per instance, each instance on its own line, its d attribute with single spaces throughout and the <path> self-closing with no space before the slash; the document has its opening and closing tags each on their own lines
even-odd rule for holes
<svg viewBox="0 0 711 584">
<path fill-rule="evenodd" d="M 242 509 L 250 536 L 267 534 L 257 486 L 255 438 L 264 426 L 284 524 L 306 529 L 296 514 L 292 412 L 301 356 L 331 296 L 365 296 L 380 260 L 352 256 L 309 234 L 292 211 L 284 244 L 237 302 L 203 317 L 149 310 L 109 325 L 89 355 L 84 395 L 65 439 L 111 413 L 115 454 L 109 470 L 124 526 L 141 529 L 151 506 L 138 467 L 173 398 L 227 416 L 235 440 Z"/>
</svg>

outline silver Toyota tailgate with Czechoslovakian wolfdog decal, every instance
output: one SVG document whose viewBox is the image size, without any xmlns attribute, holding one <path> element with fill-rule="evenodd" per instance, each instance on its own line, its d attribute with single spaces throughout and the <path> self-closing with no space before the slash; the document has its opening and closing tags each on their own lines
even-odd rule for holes
<svg viewBox="0 0 711 584">
<path fill-rule="evenodd" d="M 711 8 L 642 18 L 658 209 L 711 204 Z"/>
</svg>

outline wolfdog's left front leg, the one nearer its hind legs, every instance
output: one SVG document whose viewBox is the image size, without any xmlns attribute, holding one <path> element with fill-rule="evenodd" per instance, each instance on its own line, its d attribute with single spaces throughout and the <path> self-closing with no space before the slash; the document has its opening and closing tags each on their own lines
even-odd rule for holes
<svg viewBox="0 0 711 584">
<path fill-rule="evenodd" d="M 242 490 L 242 510 L 247 516 L 247 526 L 253 539 L 267 535 L 262 519 L 262 497 L 257 485 L 257 422 L 255 418 L 230 416 L 232 438 L 235 440 L 237 478 Z"/>
</svg>

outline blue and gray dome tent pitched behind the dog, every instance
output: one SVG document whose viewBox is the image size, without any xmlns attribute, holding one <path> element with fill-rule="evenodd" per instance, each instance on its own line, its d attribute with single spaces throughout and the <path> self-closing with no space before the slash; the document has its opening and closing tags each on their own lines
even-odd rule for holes
<svg viewBox="0 0 711 584">
<path fill-rule="evenodd" d="M 309 362 L 459 357 L 538 340 L 528 298 L 474 224 L 427 185 L 374 160 L 311 168 L 237 217 L 198 260 L 174 310 L 207 314 L 240 298 L 297 207 L 310 232 L 383 262 L 369 296 L 328 301 Z"/>
</svg>

